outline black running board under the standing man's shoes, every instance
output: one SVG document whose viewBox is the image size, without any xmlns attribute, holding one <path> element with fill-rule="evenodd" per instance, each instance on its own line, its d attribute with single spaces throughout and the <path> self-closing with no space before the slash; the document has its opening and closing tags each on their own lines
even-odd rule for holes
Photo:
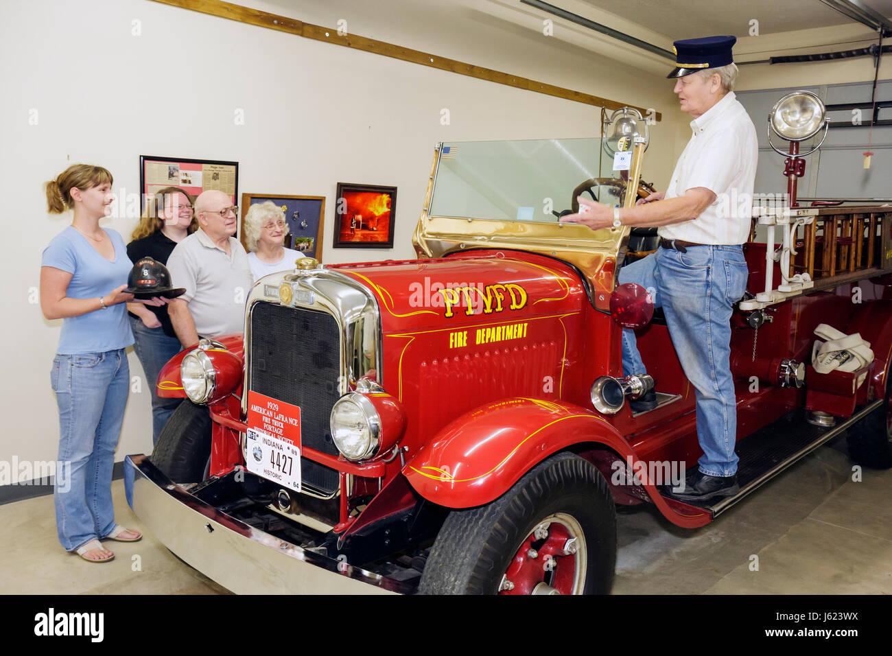
<svg viewBox="0 0 892 656">
<path fill-rule="evenodd" d="M 715 518 L 793 463 L 839 436 L 847 428 L 879 408 L 883 402 L 883 399 L 877 399 L 864 405 L 848 419 L 837 419 L 838 424 L 830 427 L 808 423 L 805 419 L 807 411 L 803 408 L 787 413 L 737 443 L 735 451 L 740 459 L 737 466 L 737 482 L 740 486 L 738 494 L 712 503 L 686 503 L 710 511 Z"/>
</svg>

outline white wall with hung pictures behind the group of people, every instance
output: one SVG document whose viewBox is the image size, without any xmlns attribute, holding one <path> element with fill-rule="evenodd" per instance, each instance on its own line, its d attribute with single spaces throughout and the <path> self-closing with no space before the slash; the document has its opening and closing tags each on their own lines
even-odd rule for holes
<svg viewBox="0 0 892 656">
<path fill-rule="evenodd" d="M 260 3 L 465 62 L 655 107 L 645 178 L 665 186 L 686 140 L 672 85 L 477 12 L 471 0 Z M 140 21 L 141 36 L 132 34 Z M 70 217 L 46 214 L 42 184 L 70 163 L 105 166 L 134 193 L 140 154 L 235 160 L 240 192 L 326 195 L 326 262 L 410 257 L 434 143 L 595 137 L 599 108 L 303 39 L 148 0 L 4 0 L 0 159 L 6 354 L 0 461 L 53 460 L 58 417 L 49 370 L 61 321 L 36 301 L 40 255 Z M 449 108 L 451 124 L 440 124 Z M 244 110 L 244 126 L 235 111 Z M 36 113 L 35 113 L 36 112 Z M 29 123 L 37 119 L 37 124 Z M 331 248 L 338 181 L 399 187 L 392 251 Z M 569 190 L 568 190 L 569 192 Z M 103 225 L 125 241 L 136 218 Z M 142 376 L 136 357 L 131 374 Z M 118 460 L 151 450 L 150 401 L 131 394 Z"/>
</svg>

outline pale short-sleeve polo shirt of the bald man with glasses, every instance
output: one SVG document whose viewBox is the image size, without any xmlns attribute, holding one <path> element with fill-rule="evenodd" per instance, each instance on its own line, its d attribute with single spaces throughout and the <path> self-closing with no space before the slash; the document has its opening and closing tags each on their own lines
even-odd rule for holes
<svg viewBox="0 0 892 656">
<path fill-rule="evenodd" d="M 227 254 L 198 228 L 173 249 L 167 267 L 171 284 L 186 287 L 180 298 L 188 303 L 199 336 L 244 330 L 244 303 L 253 279 L 238 239 L 229 237 Z"/>
</svg>

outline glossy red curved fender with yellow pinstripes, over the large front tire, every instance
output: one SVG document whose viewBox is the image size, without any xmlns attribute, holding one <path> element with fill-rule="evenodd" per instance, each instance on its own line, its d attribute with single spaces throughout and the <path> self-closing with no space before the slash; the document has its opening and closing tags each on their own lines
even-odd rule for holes
<svg viewBox="0 0 892 656">
<path fill-rule="evenodd" d="M 491 502 L 538 462 L 572 444 L 634 456 L 607 420 L 572 403 L 513 398 L 467 412 L 402 469 L 418 494 L 450 508 Z"/>
</svg>

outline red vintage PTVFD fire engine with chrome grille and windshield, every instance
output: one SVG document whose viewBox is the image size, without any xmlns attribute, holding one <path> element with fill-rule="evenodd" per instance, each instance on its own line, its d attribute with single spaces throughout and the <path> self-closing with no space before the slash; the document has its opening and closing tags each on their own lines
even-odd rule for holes
<svg viewBox="0 0 892 656">
<path fill-rule="evenodd" d="M 745 246 L 740 492 L 664 494 L 654 465 L 701 453 L 694 390 L 648 294 L 616 284 L 653 230 L 555 217 L 581 193 L 648 193 L 643 137 L 620 144 L 623 174 L 607 141 L 438 145 L 418 259 L 260 279 L 244 335 L 161 371 L 161 393 L 188 400 L 150 457 L 128 456 L 136 514 L 235 592 L 607 593 L 616 504 L 702 527 L 844 431 L 855 462 L 892 464 L 892 208 L 794 203 L 761 212 L 767 239 Z M 650 378 L 624 378 L 624 326 Z M 653 381 L 657 408 L 632 412 Z"/>
</svg>

